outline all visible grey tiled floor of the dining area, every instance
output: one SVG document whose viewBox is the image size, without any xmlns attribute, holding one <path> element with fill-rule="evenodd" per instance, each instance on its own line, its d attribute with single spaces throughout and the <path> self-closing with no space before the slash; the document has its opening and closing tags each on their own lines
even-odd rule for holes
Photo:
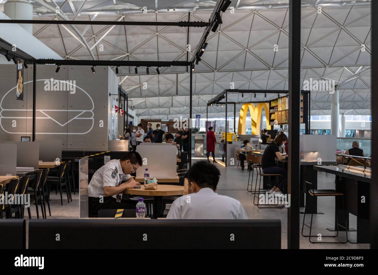
<svg viewBox="0 0 378 275">
<path fill-rule="evenodd" d="M 198 159 L 194 159 L 196 161 Z M 237 167 L 223 167 L 216 164 L 221 171 L 221 178 L 218 184 L 218 194 L 227 195 L 239 200 L 243 208 L 245 209 L 248 217 L 250 219 L 280 219 L 282 224 L 282 242 L 281 247 L 287 248 L 287 208 L 282 209 L 259 209 L 257 206 L 253 205 L 253 194 L 246 191 L 246 184 L 248 181 L 248 170 L 240 170 Z M 256 177 L 256 175 L 255 175 Z M 256 178 L 254 178 L 256 179 Z M 334 188 L 334 175 L 328 175 L 326 177 L 325 173 L 318 173 L 318 188 Z M 79 216 L 79 196 L 72 194 L 72 202 L 67 202 L 67 197 L 65 193 L 63 194 L 63 206 L 60 205 L 60 195 L 55 195 L 55 192 L 51 192 L 51 217 L 48 219 L 76 219 Z M 334 226 L 334 197 L 323 197 L 318 199 L 318 211 L 324 214 L 314 215 L 313 218 L 313 232 L 311 234 L 325 234 L 329 235 L 331 232 L 326 228 L 332 228 Z M 40 215 L 41 212 L 39 211 Z M 36 219 L 36 208 L 35 205 L 31 205 L 32 219 Z M 28 217 L 26 214 L 26 222 L 28 222 Z M 303 215 L 300 215 L 300 229 L 302 229 L 302 219 Z M 310 215 L 306 215 L 305 222 L 310 224 Z M 350 215 L 351 227 L 355 228 L 356 217 Z M 305 228 L 305 233 L 308 234 L 308 228 Z M 355 237 L 355 232 L 349 232 L 348 238 L 352 239 Z M 343 241 L 345 239 L 344 232 L 340 232 L 337 238 L 323 238 L 324 240 L 330 241 Z M 311 239 L 316 241 L 316 238 Z M 324 248 L 369 248 L 368 244 L 311 244 L 308 238 L 300 238 L 301 248 L 312 248 L 312 249 L 324 249 Z"/>
</svg>

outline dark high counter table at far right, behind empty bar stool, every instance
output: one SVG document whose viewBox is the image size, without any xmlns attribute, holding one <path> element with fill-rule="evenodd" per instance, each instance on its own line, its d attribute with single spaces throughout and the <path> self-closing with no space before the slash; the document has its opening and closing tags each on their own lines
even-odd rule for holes
<svg viewBox="0 0 378 275">
<path fill-rule="evenodd" d="M 344 194 L 345 211 L 357 216 L 357 243 L 369 243 L 369 184 L 371 183 L 371 170 L 346 165 L 337 166 L 314 166 L 314 170 L 336 175 L 335 190 Z M 364 200 L 363 200 L 364 197 Z M 348 231 L 355 231 L 349 228 L 349 215 L 346 215 Z M 342 198 L 335 198 L 335 226 L 339 231 L 345 231 L 341 225 L 345 224 L 344 211 L 342 206 Z M 335 228 L 327 228 L 335 231 Z M 349 242 L 351 242 L 349 240 Z"/>
</svg>

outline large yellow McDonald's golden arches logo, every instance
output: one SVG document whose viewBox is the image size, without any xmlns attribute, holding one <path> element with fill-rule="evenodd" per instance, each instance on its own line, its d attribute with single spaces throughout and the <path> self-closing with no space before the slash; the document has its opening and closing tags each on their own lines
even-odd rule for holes
<svg viewBox="0 0 378 275">
<path fill-rule="evenodd" d="M 239 114 L 239 124 L 238 124 L 238 134 L 245 134 L 245 122 L 247 119 L 247 112 L 249 109 L 249 114 L 251 114 L 251 127 L 252 127 L 252 134 L 259 134 L 260 133 L 260 122 L 261 122 L 261 114 L 262 109 L 265 109 L 265 117 L 266 117 L 266 130 L 270 130 L 269 124 L 269 103 L 257 103 L 255 106 L 253 103 L 246 103 L 242 105 Z"/>
</svg>

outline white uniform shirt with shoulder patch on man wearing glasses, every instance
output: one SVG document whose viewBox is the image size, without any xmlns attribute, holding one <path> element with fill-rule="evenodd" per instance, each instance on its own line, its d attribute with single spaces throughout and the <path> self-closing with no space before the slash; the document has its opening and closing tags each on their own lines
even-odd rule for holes
<svg viewBox="0 0 378 275">
<path fill-rule="evenodd" d="M 119 186 L 130 177 L 123 173 L 119 159 L 112 159 L 93 174 L 88 186 L 88 197 L 104 196 L 104 186 Z"/>
</svg>

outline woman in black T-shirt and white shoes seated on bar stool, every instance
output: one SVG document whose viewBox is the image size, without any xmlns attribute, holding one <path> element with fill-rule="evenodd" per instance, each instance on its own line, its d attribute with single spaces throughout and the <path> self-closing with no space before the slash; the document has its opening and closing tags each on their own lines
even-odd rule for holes
<svg viewBox="0 0 378 275">
<path fill-rule="evenodd" d="M 268 192 L 269 194 L 282 194 L 281 190 L 287 186 L 287 170 L 276 166 L 276 158 L 279 161 L 286 159 L 286 154 L 280 153 L 280 146 L 287 141 L 285 134 L 276 136 L 273 142 L 266 146 L 262 155 L 261 164 L 262 172 L 266 174 L 280 174 L 281 178 L 275 186 Z"/>
</svg>

